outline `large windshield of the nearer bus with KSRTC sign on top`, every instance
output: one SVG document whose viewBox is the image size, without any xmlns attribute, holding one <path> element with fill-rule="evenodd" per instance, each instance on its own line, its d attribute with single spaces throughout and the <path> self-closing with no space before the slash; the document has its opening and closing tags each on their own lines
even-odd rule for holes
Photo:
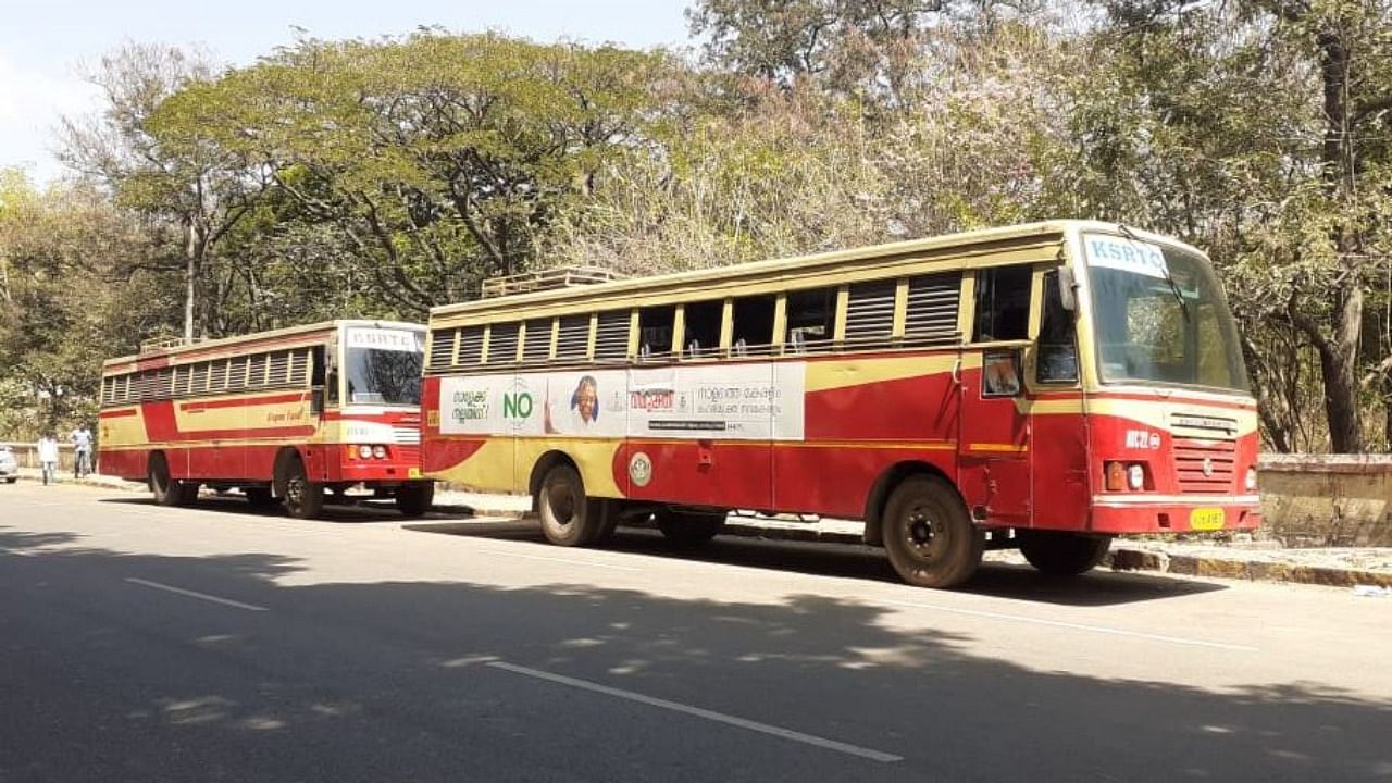
<svg viewBox="0 0 1392 783">
<path fill-rule="evenodd" d="M 1237 329 L 1208 261 L 1126 237 L 1086 234 L 1104 383 L 1250 393 Z"/>
</svg>

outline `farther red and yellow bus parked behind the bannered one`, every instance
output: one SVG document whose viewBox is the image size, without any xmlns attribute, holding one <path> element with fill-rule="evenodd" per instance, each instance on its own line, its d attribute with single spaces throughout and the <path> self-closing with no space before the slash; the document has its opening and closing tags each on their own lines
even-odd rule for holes
<svg viewBox="0 0 1392 783">
<path fill-rule="evenodd" d="M 419 515 L 434 495 L 420 478 L 423 346 L 420 325 L 334 320 L 110 359 L 102 471 L 149 482 L 166 506 L 210 486 L 312 518 L 326 490 L 362 485 Z"/>
</svg>

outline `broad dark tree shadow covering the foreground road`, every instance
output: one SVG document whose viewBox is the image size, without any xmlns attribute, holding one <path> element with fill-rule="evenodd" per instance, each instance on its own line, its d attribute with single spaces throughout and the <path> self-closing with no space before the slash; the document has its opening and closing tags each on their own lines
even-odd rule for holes
<svg viewBox="0 0 1392 783">
<path fill-rule="evenodd" d="M 0 534 L 0 546 L 25 545 Z M 533 582 L 507 587 L 341 582 L 256 552 L 32 549 L 0 568 L 0 779 L 1303 782 L 1392 773 L 1392 706 L 1315 681 L 1253 679 L 1219 690 L 1164 666 L 1154 669 L 1168 672 L 1164 680 L 1089 676 L 1084 662 L 1062 658 L 1030 667 L 988 653 L 1038 644 L 1018 626 L 947 631 L 894 621 L 894 609 L 856 596 L 711 600 L 578 581 L 562 564 L 536 568 Z M 131 574 L 264 610 L 150 591 L 124 580 Z M 58 575 L 79 577 L 85 591 L 54 596 Z M 1119 659 L 1192 655 L 1116 638 L 1098 638 L 1097 649 Z M 1242 672 L 1233 655 L 1222 665 Z M 902 758 L 878 763 L 663 705 Z"/>
</svg>

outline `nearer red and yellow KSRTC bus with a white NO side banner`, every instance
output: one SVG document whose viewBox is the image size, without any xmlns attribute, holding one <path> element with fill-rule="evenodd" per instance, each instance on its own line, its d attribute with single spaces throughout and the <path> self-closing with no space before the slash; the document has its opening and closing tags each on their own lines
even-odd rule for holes
<svg viewBox="0 0 1392 783">
<path fill-rule="evenodd" d="M 1050 222 L 430 313 L 427 476 L 535 496 L 547 538 L 727 511 L 863 520 L 906 581 L 987 548 L 1250 529 L 1257 411 L 1208 259 Z"/>
</svg>

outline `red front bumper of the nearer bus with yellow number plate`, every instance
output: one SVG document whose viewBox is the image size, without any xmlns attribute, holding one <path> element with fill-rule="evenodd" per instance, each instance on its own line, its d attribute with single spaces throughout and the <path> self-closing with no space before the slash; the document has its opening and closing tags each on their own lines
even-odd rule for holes
<svg viewBox="0 0 1392 783">
<path fill-rule="evenodd" d="M 1094 496 L 1089 529 L 1104 534 L 1250 531 L 1261 525 L 1256 495 Z"/>
</svg>

